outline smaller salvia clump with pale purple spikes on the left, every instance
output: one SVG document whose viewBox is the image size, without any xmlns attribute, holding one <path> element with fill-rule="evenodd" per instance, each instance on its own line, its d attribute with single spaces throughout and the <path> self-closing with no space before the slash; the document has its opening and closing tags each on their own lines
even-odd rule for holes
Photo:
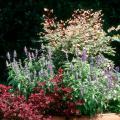
<svg viewBox="0 0 120 120">
<path fill-rule="evenodd" d="M 43 46 L 42 51 L 44 50 Z M 17 88 L 21 94 L 27 97 L 38 81 L 42 82 L 54 76 L 54 66 L 49 48 L 47 55 L 41 53 L 40 56 L 38 55 L 38 50 L 30 52 L 25 47 L 24 51 L 26 58 L 23 61 L 17 58 L 16 51 L 14 51 L 13 57 L 8 52 L 6 63 L 9 71 L 9 85 L 14 86 L 15 89 Z"/>
</svg>

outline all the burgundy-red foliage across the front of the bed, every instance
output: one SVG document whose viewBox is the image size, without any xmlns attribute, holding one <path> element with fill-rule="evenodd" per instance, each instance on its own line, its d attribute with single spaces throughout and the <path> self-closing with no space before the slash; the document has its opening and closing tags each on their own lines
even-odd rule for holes
<svg viewBox="0 0 120 120">
<path fill-rule="evenodd" d="M 10 93 L 11 87 L 0 84 L 0 119 L 2 120 L 51 120 L 48 115 L 71 115 L 80 113 L 76 105 L 83 105 L 84 101 L 71 100 L 72 89 L 62 83 L 62 69 L 51 80 L 53 91 L 42 89 L 46 83 L 38 83 L 26 100 L 24 96 Z"/>
</svg>

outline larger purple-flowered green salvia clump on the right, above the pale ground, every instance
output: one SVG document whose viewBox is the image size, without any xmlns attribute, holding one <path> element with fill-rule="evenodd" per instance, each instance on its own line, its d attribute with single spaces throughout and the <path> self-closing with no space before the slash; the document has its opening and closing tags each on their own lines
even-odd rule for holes
<svg viewBox="0 0 120 120">
<path fill-rule="evenodd" d="M 90 63 L 87 59 L 87 55 L 83 54 L 82 58 L 78 57 L 65 64 L 64 84 L 73 89 L 74 100 L 81 98 L 85 101 L 78 107 L 82 114 L 110 111 L 110 101 L 119 101 L 119 77 L 113 66 L 104 66 L 104 57 L 91 59 Z"/>
</svg>

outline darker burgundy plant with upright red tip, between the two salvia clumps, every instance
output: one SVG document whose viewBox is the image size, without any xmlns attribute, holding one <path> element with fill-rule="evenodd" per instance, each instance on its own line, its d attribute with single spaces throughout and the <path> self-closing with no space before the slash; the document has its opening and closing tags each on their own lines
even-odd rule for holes
<svg viewBox="0 0 120 120">
<path fill-rule="evenodd" d="M 80 114 L 77 106 L 83 105 L 84 100 L 73 100 L 71 96 L 73 89 L 63 84 L 62 69 L 59 69 L 58 74 L 51 79 L 50 82 L 52 86 L 47 86 L 47 82 L 38 83 L 38 86 L 34 89 L 35 94 L 30 96 L 29 102 L 32 103 L 36 109 L 41 110 L 42 107 L 45 113 L 51 115 L 70 116 Z M 44 89 L 44 87 L 46 88 Z"/>
</svg>

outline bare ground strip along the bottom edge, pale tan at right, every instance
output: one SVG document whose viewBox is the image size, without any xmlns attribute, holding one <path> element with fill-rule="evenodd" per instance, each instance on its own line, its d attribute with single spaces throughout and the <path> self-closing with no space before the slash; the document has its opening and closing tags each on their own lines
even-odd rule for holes
<svg viewBox="0 0 120 120">
<path fill-rule="evenodd" d="M 88 118 L 85 116 L 82 117 L 70 117 L 66 119 L 65 117 L 54 116 L 52 120 L 120 120 L 120 115 L 114 113 L 99 114 L 96 117 Z"/>
</svg>

